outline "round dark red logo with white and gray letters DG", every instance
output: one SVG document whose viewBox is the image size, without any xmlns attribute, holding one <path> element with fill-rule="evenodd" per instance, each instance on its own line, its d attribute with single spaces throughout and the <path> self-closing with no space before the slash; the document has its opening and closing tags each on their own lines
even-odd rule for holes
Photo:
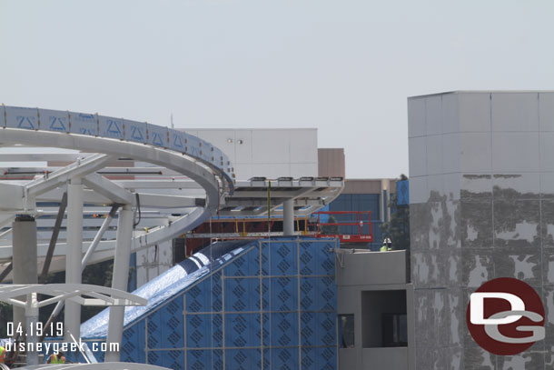
<svg viewBox="0 0 554 370">
<path fill-rule="evenodd" d="M 466 322 L 475 342 L 495 355 L 517 355 L 545 337 L 542 300 L 511 277 L 490 280 L 472 293 Z"/>
</svg>

